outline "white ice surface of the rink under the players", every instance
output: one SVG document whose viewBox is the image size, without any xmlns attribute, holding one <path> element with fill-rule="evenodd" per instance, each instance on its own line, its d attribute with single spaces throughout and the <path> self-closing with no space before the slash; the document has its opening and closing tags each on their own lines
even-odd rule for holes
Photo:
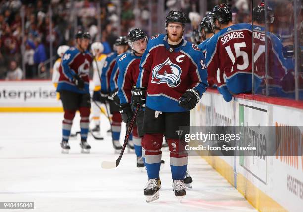
<svg viewBox="0 0 303 212">
<path fill-rule="evenodd" d="M 253 212 L 241 194 L 200 157 L 189 157 L 193 189 L 179 203 L 172 191 L 169 152 L 163 151 L 160 199 L 146 203 L 145 171 L 125 152 L 116 169 L 108 120 L 101 116 L 103 141 L 89 137 L 90 154 L 81 154 L 79 137 L 62 154 L 63 113 L 0 113 L 0 201 L 34 201 L 37 212 Z M 79 114 L 72 132 L 79 130 Z M 122 137 L 122 136 L 121 136 Z M 121 141 L 122 144 L 122 141 Z M 1 212 L 5 210 L 0 210 Z M 9 210 L 26 211 L 26 210 Z"/>
</svg>

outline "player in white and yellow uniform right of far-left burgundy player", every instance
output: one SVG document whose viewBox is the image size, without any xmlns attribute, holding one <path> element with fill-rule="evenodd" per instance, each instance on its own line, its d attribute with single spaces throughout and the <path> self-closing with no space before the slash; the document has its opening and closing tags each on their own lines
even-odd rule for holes
<svg viewBox="0 0 303 212">
<path fill-rule="evenodd" d="M 101 107 L 101 83 L 100 83 L 100 76 L 101 71 L 106 59 L 106 54 L 103 54 L 104 46 L 101 42 L 94 42 L 91 45 L 91 50 L 93 56 L 95 57 L 93 60 L 93 83 L 94 83 L 94 93 L 93 93 L 93 100 L 95 103 L 92 104 L 92 118 L 95 123 L 95 127 L 92 129 L 93 132 L 100 131 L 100 107 Z M 96 105 L 98 104 L 98 106 Z"/>
</svg>

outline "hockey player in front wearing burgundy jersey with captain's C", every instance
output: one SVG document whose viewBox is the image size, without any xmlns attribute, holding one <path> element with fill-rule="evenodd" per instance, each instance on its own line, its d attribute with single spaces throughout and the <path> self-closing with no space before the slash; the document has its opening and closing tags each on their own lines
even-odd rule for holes
<svg viewBox="0 0 303 212">
<path fill-rule="evenodd" d="M 182 39 L 185 22 L 182 11 L 169 12 L 165 21 L 167 34 L 149 40 L 133 92 L 133 105 L 145 108 L 143 147 L 148 183 L 143 193 L 147 202 L 159 198 L 157 179 L 163 134 L 169 144 L 173 191 L 178 197 L 186 195 L 187 151 L 183 137 L 187 132 L 181 132 L 179 127 L 190 126 L 189 111 L 199 102 L 208 83 L 202 51 Z"/>
</svg>

